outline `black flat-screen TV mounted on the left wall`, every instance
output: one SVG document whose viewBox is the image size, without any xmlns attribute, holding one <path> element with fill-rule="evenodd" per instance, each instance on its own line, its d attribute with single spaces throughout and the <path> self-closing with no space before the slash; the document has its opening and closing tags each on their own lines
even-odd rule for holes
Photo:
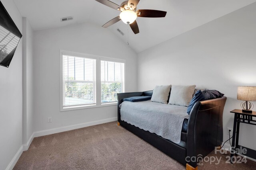
<svg viewBox="0 0 256 170">
<path fill-rule="evenodd" d="M 9 67 L 22 35 L 0 1 L 0 65 Z"/>
</svg>

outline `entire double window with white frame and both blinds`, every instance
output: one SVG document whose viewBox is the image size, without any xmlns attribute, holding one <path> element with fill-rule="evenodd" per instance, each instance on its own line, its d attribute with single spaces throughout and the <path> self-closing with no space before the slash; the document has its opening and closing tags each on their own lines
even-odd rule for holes
<svg viewBox="0 0 256 170">
<path fill-rule="evenodd" d="M 60 111 L 116 105 L 124 60 L 60 51 Z"/>
</svg>

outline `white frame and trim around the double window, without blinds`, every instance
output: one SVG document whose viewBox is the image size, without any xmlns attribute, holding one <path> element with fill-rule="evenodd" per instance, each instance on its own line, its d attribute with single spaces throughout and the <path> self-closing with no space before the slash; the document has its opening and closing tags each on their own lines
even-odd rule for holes
<svg viewBox="0 0 256 170">
<path fill-rule="evenodd" d="M 73 57 L 82 57 L 88 59 L 96 59 L 96 104 L 86 104 L 79 106 L 64 106 L 63 103 L 63 92 L 65 90 L 65 86 L 63 86 L 63 55 L 73 56 Z M 115 59 L 111 57 L 103 57 L 99 55 L 91 55 L 86 53 L 78 53 L 73 51 L 60 50 L 60 111 L 70 111 L 77 109 L 88 109 L 95 107 L 106 107 L 106 106 L 115 106 L 117 102 L 107 102 L 101 103 L 101 61 L 112 61 L 117 63 L 124 63 L 124 92 L 126 90 L 126 60 L 124 59 Z"/>
</svg>

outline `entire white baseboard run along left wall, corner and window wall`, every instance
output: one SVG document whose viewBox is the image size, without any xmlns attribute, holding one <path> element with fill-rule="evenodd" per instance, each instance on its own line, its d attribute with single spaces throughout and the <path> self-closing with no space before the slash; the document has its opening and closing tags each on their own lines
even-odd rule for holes
<svg viewBox="0 0 256 170">
<path fill-rule="evenodd" d="M 44 135 L 51 135 L 51 134 L 54 134 L 54 133 L 70 131 L 70 130 L 79 129 L 79 128 L 83 128 L 83 127 L 88 127 L 88 126 L 93 126 L 93 125 L 99 125 L 99 124 L 108 123 L 108 122 L 111 122 L 111 121 L 117 121 L 117 117 L 112 117 L 112 118 L 108 118 L 108 119 L 90 121 L 90 122 L 80 123 L 80 124 L 76 124 L 76 125 L 69 125 L 69 126 L 58 127 L 58 128 L 54 128 L 54 129 L 48 129 L 48 130 L 44 130 L 44 131 L 34 132 L 30 136 L 30 138 L 28 139 L 28 142 L 26 144 L 23 144 L 20 147 L 18 152 L 12 158 L 12 161 L 7 166 L 6 170 L 12 170 L 12 168 L 14 168 L 15 164 L 17 163 L 18 159 L 20 158 L 20 155 L 22 154 L 23 151 L 28 150 L 28 148 L 29 148 L 31 142 L 33 141 L 34 137 L 40 137 L 40 136 L 44 136 Z"/>
</svg>

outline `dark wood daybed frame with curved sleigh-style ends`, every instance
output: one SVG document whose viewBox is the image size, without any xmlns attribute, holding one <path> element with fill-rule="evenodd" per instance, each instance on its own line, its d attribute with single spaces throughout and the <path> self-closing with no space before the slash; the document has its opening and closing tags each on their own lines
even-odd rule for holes
<svg viewBox="0 0 256 170">
<path fill-rule="evenodd" d="M 186 170 L 196 170 L 198 162 L 194 161 L 194 158 L 196 158 L 196 160 L 198 160 L 198 156 L 204 158 L 212 152 L 215 147 L 222 144 L 222 115 L 226 97 L 197 102 L 192 108 L 188 119 L 188 129 L 185 134 L 186 142 L 183 145 L 177 145 L 155 133 L 144 131 L 121 120 L 119 105 L 123 102 L 123 98 L 132 96 L 152 96 L 152 93 L 152 91 L 146 91 L 117 94 L 118 125 L 121 125 L 168 156 L 174 158 L 186 166 Z"/>
</svg>

